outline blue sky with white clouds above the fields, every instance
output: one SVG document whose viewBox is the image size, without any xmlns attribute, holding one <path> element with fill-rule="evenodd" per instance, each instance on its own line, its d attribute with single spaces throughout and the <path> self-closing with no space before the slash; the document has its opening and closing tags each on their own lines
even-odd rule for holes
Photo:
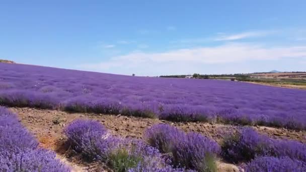
<svg viewBox="0 0 306 172">
<path fill-rule="evenodd" d="M 306 1 L 0 1 L 0 58 L 131 75 L 306 70 Z"/>
</svg>

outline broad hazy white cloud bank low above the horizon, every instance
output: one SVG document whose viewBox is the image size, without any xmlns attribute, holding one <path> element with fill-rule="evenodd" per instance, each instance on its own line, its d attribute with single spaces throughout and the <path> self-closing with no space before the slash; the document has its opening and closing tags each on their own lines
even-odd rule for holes
<svg viewBox="0 0 306 172">
<path fill-rule="evenodd" d="M 117 73 L 119 69 L 121 71 L 126 70 L 126 72 L 149 72 L 150 68 L 152 71 L 159 69 L 158 71 L 161 73 L 166 73 L 169 69 L 178 72 L 192 72 L 195 66 L 203 64 L 223 65 L 250 60 L 277 60 L 281 58 L 304 57 L 306 57 L 306 46 L 264 47 L 258 44 L 228 43 L 215 47 L 178 49 L 161 53 L 138 51 L 114 56 L 101 63 L 85 64 L 82 67 L 112 73 Z M 247 69 L 244 69 L 244 71 Z"/>
</svg>

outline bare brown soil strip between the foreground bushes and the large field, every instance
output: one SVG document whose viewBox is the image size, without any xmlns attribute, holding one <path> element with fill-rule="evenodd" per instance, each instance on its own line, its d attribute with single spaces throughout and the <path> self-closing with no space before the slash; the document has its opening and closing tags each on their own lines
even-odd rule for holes
<svg viewBox="0 0 306 172">
<path fill-rule="evenodd" d="M 239 129 L 241 126 L 224 124 L 212 124 L 202 122 L 169 122 L 159 119 L 127 117 L 120 115 L 97 115 L 86 113 L 67 113 L 55 110 L 38 110 L 32 108 L 10 108 L 20 118 L 21 123 L 26 126 L 40 141 L 41 146 L 55 150 L 58 157 L 72 165 L 74 171 L 109 171 L 105 164 L 86 163 L 78 156 L 70 153 L 60 145 L 66 139 L 62 133 L 65 125 L 74 119 L 94 119 L 110 130 L 114 135 L 122 137 L 142 138 L 144 130 L 154 124 L 167 123 L 182 128 L 186 132 L 195 131 L 221 142 L 222 138 L 229 133 Z M 285 138 L 298 140 L 306 143 L 306 131 L 292 131 L 284 128 L 271 128 L 257 126 L 253 127 L 260 133 L 272 138 Z M 218 162 L 218 171 L 238 171 L 233 164 Z"/>
</svg>

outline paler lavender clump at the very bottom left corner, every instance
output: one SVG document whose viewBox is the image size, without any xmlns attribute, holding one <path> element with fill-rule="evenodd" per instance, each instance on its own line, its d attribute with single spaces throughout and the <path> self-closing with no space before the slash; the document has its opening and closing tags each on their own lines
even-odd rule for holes
<svg viewBox="0 0 306 172">
<path fill-rule="evenodd" d="M 71 171 L 45 149 L 26 149 L 19 153 L 0 153 L 0 171 Z"/>
</svg>

